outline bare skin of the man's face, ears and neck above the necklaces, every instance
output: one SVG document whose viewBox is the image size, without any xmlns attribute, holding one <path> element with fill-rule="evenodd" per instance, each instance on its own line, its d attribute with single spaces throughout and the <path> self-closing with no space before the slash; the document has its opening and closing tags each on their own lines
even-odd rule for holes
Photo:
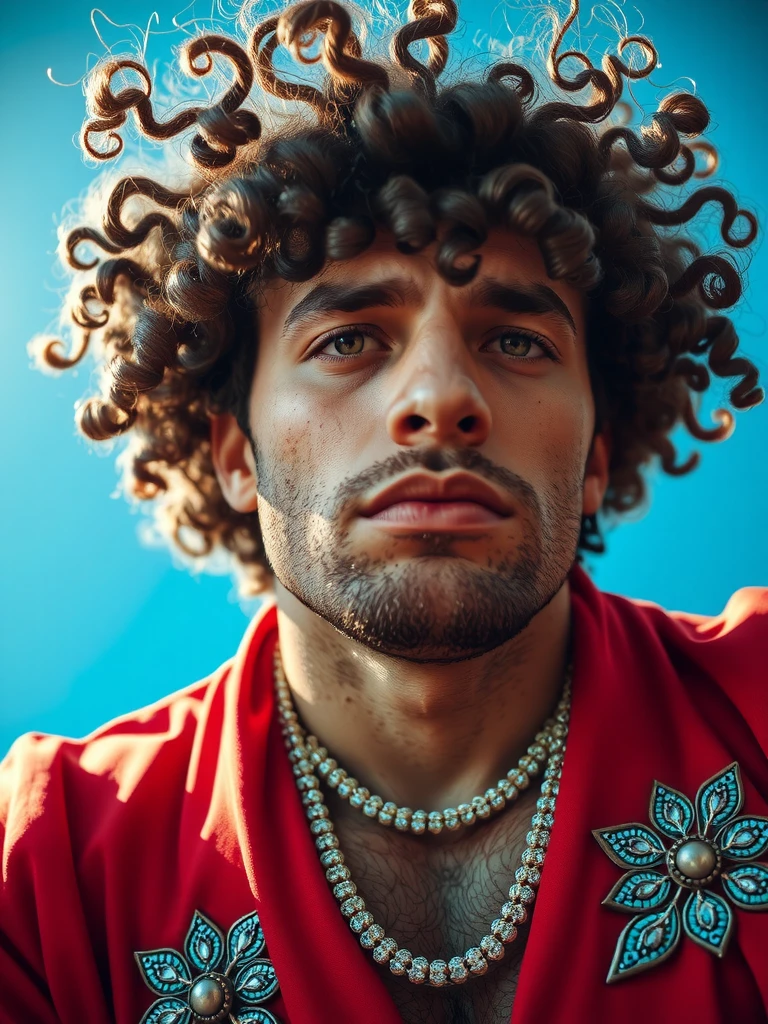
<svg viewBox="0 0 768 1024">
<path fill-rule="evenodd" d="M 263 289 L 254 445 L 233 417 L 211 424 L 226 500 L 258 511 L 304 725 L 372 793 L 414 808 L 456 806 L 494 784 L 554 708 L 580 521 L 607 485 L 584 297 L 547 276 L 529 240 L 497 230 L 479 252 L 473 285 L 546 284 L 575 332 L 553 314 L 477 307 L 472 285 L 439 276 L 432 249 L 402 255 L 380 236 L 354 261 Z M 318 283 L 394 274 L 420 298 L 325 314 L 284 336 Z M 311 357 L 328 332 L 355 325 L 365 341 L 347 332 L 341 355 L 332 341 L 322 349 L 338 361 Z M 510 329 L 536 332 L 556 358 Z M 495 483 L 514 514 L 484 532 L 407 537 L 358 514 L 407 470 L 457 467 Z"/>
</svg>

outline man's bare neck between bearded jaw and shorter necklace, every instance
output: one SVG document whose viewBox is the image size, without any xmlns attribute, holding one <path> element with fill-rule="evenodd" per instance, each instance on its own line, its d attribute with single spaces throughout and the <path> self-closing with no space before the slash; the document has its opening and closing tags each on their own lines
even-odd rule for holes
<svg viewBox="0 0 768 1024">
<path fill-rule="evenodd" d="M 513 640 L 478 657 L 419 664 L 338 633 L 275 581 L 286 678 L 304 728 L 371 793 L 456 807 L 515 766 L 562 690 L 567 582 Z"/>
</svg>

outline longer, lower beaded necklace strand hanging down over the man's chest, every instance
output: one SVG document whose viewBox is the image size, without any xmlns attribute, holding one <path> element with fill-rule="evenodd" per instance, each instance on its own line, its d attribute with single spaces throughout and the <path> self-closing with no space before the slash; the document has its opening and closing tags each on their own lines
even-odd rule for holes
<svg viewBox="0 0 768 1024">
<path fill-rule="evenodd" d="M 279 657 L 275 649 L 275 670 Z M 559 731 L 562 735 L 556 737 L 560 740 L 560 745 L 557 751 L 550 753 L 547 759 L 541 797 L 537 801 L 530 830 L 525 837 L 525 849 L 520 858 L 520 866 L 515 871 L 515 882 L 509 889 L 509 899 L 502 905 L 499 916 L 490 923 L 487 934 L 482 936 L 479 943 L 471 946 L 463 955 L 452 956 L 449 961 L 438 958 L 430 962 L 425 956 L 415 956 L 410 949 L 400 947 L 397 941 L 388 936 L 384 928 L 376 923 L 366 901 L 357 894 L 357 887 L 344 863 L 344 854 L 334 833 L 334 825 L 315 771 L 316 763 L 311 757 L 324 749 L 319 745 L 308 745 L 309 738 L 315 739 L 315 737 L 306 736 L 301 728 L 288 683 L 285 676 L 281 678 L 276 671 L 275 689 L 286 746 L 293 764 L 296 784 L 302 795 L 302 803 L 309 819 L 309 829 L 314 838 L 321 864 L 340 904 L 341 912 L 362 948 L 372 953 L 377 964 L 388 966 L 393 975 L 406 977 L 415 985 L 426 983 L 435 988 L 462 985 L 471 977 L 485 974 L 492 964 L 504 957 L 505 947 L 517 938 L 518 926 L 525 924 L 532 912 L 560 788 L 570 714 L 570 671 L 554 716 L 555 724 L 561 727 Z M 325 751 L 324 758 L 327 757 L 328 752 Z"/>
</svg>

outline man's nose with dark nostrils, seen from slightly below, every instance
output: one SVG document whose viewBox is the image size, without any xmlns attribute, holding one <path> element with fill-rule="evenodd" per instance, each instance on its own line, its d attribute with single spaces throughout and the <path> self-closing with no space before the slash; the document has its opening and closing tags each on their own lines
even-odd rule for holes
<svg viewBox="0 0 768 1024">
<path fill-rule="evenodd" d="M 482 444 L 490 410 L 474 377 L 466 344 L 453 331 L 430 332 L 406 354 L 387 413 L 396 444 Z"/>
</svg>

